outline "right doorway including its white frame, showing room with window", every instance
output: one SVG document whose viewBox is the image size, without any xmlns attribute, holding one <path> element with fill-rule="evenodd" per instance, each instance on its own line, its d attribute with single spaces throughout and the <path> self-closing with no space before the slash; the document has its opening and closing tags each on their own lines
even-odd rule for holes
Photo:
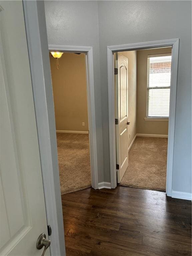
<svg viewBox="0 0 192 256">
<path fill-rule="evenodd" d="M 172 195 L 178 42 L 108 47 L 112 188 Z"/>
</svg>

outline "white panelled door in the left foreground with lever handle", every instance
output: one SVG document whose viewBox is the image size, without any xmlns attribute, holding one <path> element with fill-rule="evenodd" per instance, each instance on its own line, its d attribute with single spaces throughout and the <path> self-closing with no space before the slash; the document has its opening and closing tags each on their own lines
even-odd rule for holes
<svg viewBox="0 0 192 256">
<path fill-rule="evenodd" d="M 0 255 L 39 256 L 48 234 L 22 1 L 0 2 L 0 26 Z"/>
</svg>

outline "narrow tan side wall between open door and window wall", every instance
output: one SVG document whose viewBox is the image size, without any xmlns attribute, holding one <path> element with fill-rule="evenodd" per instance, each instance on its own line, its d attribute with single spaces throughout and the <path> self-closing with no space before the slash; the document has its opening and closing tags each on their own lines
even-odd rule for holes
<svg viewBox="0 0 192 256">
<path fill-rule="evenodd" d="M 128 137 L 129 146 L 137 133 L 137 52 L 127 51 L 120 54 L 128 58 L 128 120 L 131 135 Z"/>
</svg>

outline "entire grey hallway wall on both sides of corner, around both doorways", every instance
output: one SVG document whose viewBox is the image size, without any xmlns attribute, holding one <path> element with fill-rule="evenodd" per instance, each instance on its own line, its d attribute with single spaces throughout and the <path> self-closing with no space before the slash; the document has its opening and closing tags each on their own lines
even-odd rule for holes
<svg viewBox="0 0 192 256">
<path fill-rule="evenodd" d="M 99 182 L 110 181 L 107 46 L 180 38 L 173 190 L 191 192 L 191 2 L 45 1 L 45 7 L 49 44 L 93 46 Z"/>
</svg>

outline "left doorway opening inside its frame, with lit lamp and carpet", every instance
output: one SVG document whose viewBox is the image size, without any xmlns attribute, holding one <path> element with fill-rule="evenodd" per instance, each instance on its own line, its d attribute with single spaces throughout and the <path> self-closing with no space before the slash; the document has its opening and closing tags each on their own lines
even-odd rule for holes
<svg viewBox="0 0 192 256">
<path fill-rule="evenodd" d="M 85 53 L 50 52 L 61 195 L 91 187 Z"/>
</svg>

